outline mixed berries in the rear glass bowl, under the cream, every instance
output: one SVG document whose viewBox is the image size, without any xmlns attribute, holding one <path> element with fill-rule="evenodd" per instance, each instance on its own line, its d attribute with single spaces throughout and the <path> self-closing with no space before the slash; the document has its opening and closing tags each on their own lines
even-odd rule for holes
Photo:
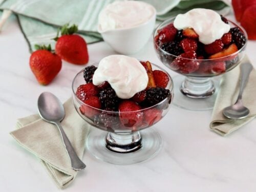
<svg viewBox="0 0 256 192">
<path fill-rule="evenodd" d="M 228 24 L 222 15 L 221 19 Z M 202 44 L 198 38 L 192 28 L 177 30 L 171 23 L 157 31 L 155 48 L 162 62 L 172 70 L 192 76 L 213 75 L 224 73 L 232 66 L 230 63 L 236 63 L 238 54 L 234 53 L 243 48 L 247 41 L 238 27 L 230 28 L 228 33 L 209 45 Z"/>
</svg>

